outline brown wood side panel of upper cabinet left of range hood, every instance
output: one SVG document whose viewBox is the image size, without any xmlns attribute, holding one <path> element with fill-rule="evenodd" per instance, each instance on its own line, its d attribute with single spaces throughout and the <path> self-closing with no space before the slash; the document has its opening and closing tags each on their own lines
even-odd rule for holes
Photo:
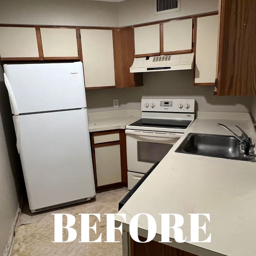
<svg viewBox="0 0 256 256">
<path fill-rule="evenodd" d="M 134 61 L 133 28 L 113 30 L 115 86 L 117 88 L 143 86 L 143 73 L 130 73 Z"/>
</svg>

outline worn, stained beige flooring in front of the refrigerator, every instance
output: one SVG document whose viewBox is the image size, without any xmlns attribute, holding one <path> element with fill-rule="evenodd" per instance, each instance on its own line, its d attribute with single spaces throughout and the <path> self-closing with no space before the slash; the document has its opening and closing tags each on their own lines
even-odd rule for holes
<svg viewBox="0 0 256 256">
<path fill-rule="evenodd" d="M 15 237 L 10 256 L 121 256 L 122 243 L 106 243 L 106 213 L 117 213 L 118 203 L 128 192 L 127 188 L 111 190 L 96 194 L 96 199 L 86 203 L 79 203 L 69 207 L 54 209 L 47 212 L 32 214 L 24 204 L 16 226 Z M 53 213 L 72 214 L 76 218 L 75 225 L 77 239 L 73 242 L 53 243 L 54 215 Z M 90 240 L 95 240 L 102 234 L 101 243 L 79 243 L 81 222 L 79 213 L 99 213 L 101 222 L 91 216 L 91 226 L 97 223 L 97 234 L 90 230 Z M 65 218 L 64 218 L 65 223 Z M 116 231 L 116 241 L 121 241 L 121 234 Z M 63 240 L 67 239 L 67 232 L 63 231 Z"/>
</svg>

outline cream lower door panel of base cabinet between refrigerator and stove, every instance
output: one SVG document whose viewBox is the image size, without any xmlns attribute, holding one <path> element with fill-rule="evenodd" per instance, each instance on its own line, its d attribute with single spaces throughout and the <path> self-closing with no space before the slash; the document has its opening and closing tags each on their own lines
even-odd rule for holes
<svg viewBox="0 0 256 256">
<path fill-rule="evenodd" d="M 97 185 L 121 182 L 120 145 L 95 148 Z"/>
</svg>

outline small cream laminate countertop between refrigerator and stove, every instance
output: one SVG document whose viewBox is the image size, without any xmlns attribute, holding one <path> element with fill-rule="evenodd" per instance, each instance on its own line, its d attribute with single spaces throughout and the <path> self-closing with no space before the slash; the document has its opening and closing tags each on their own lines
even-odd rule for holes
<svg viewBox="0 0 256 256">
<path fill-rule="evenodd" d="M 112 110 L 89 112 L 89 131 L 125 129 L 125 126 L 141 118 L 141 110 Z"/>
</svg>

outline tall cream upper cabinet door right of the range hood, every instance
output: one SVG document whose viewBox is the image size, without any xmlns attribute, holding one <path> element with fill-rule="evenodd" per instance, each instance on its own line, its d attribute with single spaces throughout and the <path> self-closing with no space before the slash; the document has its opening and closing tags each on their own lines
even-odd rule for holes
<svg viewBox="0 0 256 256">
<path fill-rule="evenodd" d="M 218 15 L 195 18 L 194 85 L 215 85 Z"/>
</svg>

